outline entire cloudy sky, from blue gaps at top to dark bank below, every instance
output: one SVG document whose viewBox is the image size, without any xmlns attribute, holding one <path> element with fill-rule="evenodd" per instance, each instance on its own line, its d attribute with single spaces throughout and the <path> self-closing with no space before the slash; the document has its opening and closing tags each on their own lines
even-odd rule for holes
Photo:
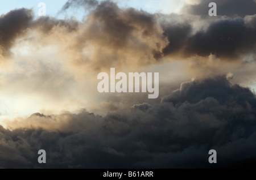
<svg viewBox="0 0 256 180">
<path fill-rule="evenodd" d="M 210 2 L 1 2 L 0 168 L 255 167 L 256 2 Z M 159 96 L 100 93 L 110 68 Z"/>
</svg>

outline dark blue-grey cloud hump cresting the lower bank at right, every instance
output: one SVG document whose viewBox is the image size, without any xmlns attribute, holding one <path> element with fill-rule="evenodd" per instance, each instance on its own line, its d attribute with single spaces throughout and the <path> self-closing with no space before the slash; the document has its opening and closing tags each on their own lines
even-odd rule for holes
<svg viewBox="0 0 256 180">
<path fill-rule="evenodd" d="M 201 92 L 201 89 L 204 89 L 203 93 Z M 196 95 L 197 92 L 200 93 Z M 243 92 L 242 95 L 240 95 L 240 92 Z M 172 92 L 170 96 L 165 97 L 162 101 L 172 102 L 174 105 L 178 105 L 184 101 L 195 104 L 201 100 L 205 100 L 207 97 L 212 97 L 218 100 L 221 104 L 226 104 L 233 100 L 244 108 L 246 108 L 248 103 L 251 108 L 256 108 L 254 96 L 255 95 L 250 91 L 250 89 L 242 88 L 239 85 L 231 86 L 228 80 L 220 76 L 214 79 L 206 79 L 203 83 L 183 83 L 181 84 L 180 89 Z"/>
</svg>

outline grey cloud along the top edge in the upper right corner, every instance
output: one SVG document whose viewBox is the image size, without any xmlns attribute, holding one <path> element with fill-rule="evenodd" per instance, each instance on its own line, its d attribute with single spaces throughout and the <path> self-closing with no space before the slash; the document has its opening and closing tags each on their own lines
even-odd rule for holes
<svg viewBox="0 0 256 180">
<path fill-rule="evenodd" d="M 198 5 L 185 5 L 181 12 L 208 16 L 210 2 L 217 4 L 217 15 L 244 17 L 256 14 L 256 2 L 254 0 L 203 0 Z"/>
</svg>

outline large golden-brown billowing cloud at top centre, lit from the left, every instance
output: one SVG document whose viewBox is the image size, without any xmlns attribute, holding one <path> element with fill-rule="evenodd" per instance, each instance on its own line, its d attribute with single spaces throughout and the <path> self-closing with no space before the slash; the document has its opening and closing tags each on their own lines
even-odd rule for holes
<svg viewBox="0 0 256 180">
<path fill-rule="evenodd" d="M 123 10 L 109 1 L 89 14 L 78 38 L 80 53 L 93 48 L 92 59 L 81 57 L 80 63 L 92 62 L 96 69 L 155 63 L 168 45 L 155 15 L 134 8 Z"/>
</svg>

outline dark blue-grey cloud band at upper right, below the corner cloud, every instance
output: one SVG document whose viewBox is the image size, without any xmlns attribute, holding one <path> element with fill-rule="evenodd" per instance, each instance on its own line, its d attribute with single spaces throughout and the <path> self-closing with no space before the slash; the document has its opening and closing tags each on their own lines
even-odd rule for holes
<svg viewBox="0 0 256 180">
<path fill-rule="evenodd" d="M 236 58 L 241 54 L 254 53 L 256 47 L 256 15 L 245 18 L 228 18 L 216 20 L 205 30 L 192 35 L 191 25 L 188 23 L 162 22 L 164 34 L 168 36 L 170 44 L 164 49 L 165 55 L 181 52 L 181 55 Z"/>
</svg>

